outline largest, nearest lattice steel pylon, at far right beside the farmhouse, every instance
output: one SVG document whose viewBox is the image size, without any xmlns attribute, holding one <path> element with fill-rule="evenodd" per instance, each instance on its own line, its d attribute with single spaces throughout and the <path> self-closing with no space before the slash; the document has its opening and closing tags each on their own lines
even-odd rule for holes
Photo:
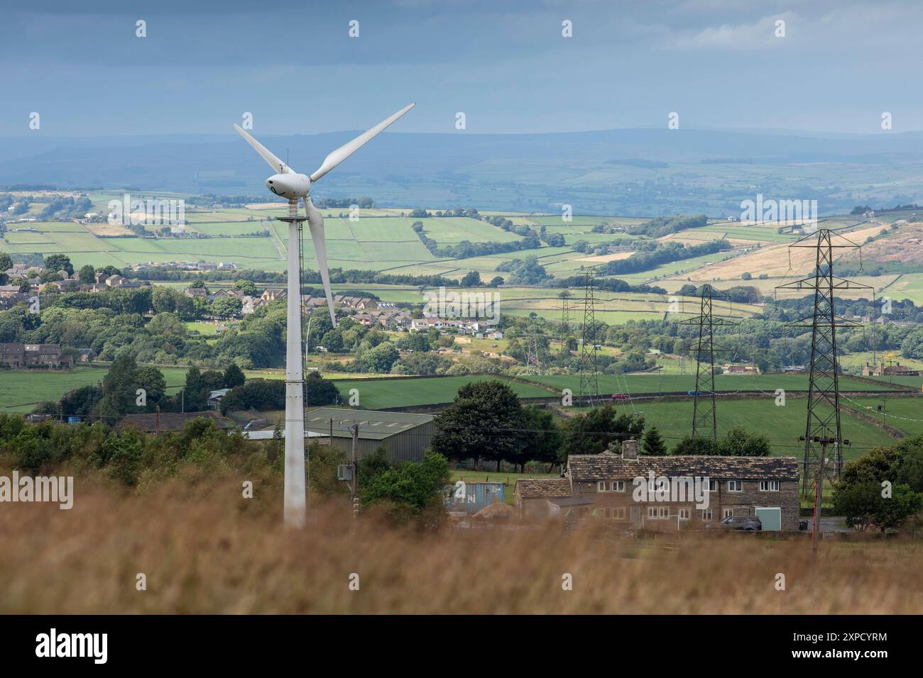
<svg viewBox="0 0 923 678">
<path fill-rule="evenodd" d="M 861 323 L 836 315 L 834 294 L 844 290 L 870 290 L 874 293 L 874 288 L 833 275 L 833 250 L 840 247 L 859 248 L 859 245 L 830 229 L 819 229 L 789 247 L 813 247 L 816 250 L 813 276 L 776 287 L 776 290 L 814 291 L 814 313 L 787 324 L 787 327 L 811 328 L 808 422 L 804 435 L 801 485 L 802 494 L 809 497 L 815 494 L 818 482 L 822 488 L 824 480 L 832 481 L 840 477 L 843 470 L 843 445 L 848 445 L 840 428 L 836 328 L 861 327 Z M 861 261 L 859 249 L 860 268 Z M 824 459 L 827 446 L 833 446 L 833 463 L 829 464 Z"/>
</svg>

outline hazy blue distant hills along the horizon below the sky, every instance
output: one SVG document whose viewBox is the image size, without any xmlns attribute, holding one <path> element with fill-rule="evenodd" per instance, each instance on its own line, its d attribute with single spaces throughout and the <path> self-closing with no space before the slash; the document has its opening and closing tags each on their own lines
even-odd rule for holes
<svg viewBox="0 0 923 678">
<path fill-rule="evenodd" d="M 302 172 L 355 132 L 256 136 Z M 614 160 L 615 159 L 615 160 Z M 618 160 L 623 159 L 623 160 Z M 0 184 L 143 185 L 258 194 L 268 173 L 233 134 L 6 137 Z M 386 133 L 318 184 L 379 205 L 575 214 L 727 216 L 757 193 L 816 199 L 821 215 L 923 201 L 923 134 L 619 129 L 525 135 Z"/>
</svg>

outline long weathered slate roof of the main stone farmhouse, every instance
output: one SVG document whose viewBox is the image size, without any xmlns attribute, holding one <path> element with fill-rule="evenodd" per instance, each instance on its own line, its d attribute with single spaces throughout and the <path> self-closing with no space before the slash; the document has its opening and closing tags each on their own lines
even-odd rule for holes
<svg viewBox="0 0 923 678">
<path fill-rule="evenodd" d="M 646 457 L 624 459 L 611 452 L 570 455 L 568 472 L 574 481 L 629 480 L 646 476 L 708 476 L 715 480 L 797 481 L 795 457 Z"/>
</svg>

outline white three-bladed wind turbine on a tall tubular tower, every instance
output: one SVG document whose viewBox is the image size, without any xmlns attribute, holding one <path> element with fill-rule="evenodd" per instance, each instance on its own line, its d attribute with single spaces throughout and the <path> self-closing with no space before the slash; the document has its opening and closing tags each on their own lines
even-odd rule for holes
<svg viewBox="0 0 923 678">
<path fill-rule="evenodd" d="M 324 218 L 311 203 L 311 182 L 316 182 L 342 161 L 361 149 L 383 129 L 407 113 L 416 104 L 405 106 L 390 118 L 383 120 L 367 132 L 343 144 L 332 151 L 320 164 L 318 170 L 306 176 L 294 172 L 291 167 L 276 158 L 255 138 L 248 135 L 238 125 L 234 129 L 246 139 L 276 172 L 266 180 L 266 187 L 277 196 L 288 198 L 289 213 L 282 217 L 288 221 L 288 319 L 285 343 L 285 510 L 286 525 L 303 527 L 306 519 L 305 503 L 305 375 L 302 370 L 301 346 L 301 280 L 300 280 L 300 246 L 298 228 L 302 221 L 307 221 L 311 232 L 311 241 L 318 256 L 320 280 L 324 283 L 327 305 L 330 308 L 330 321 L 337 327 L 337 318 L 333 313 L 333 295 L 330 292 L 330 273 L 327 270 L 327 247 L 324 244 Z M 305 214 L 298 213 L 298 200 L 305 201 Z"/>
</svg>

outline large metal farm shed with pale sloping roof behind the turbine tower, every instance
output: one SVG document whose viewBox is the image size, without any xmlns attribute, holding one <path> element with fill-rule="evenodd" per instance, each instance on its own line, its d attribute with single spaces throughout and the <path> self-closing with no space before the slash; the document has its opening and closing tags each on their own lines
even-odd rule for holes
<svg viewBox="0 0 923 678">
<path fill-rule="evenodd" d="M 305 430 L 320 434 L 321 444 L 331 440 L 347 455 L 352 454 L 354 423 L 359 424 L 359 459 L 385 446 L 391 461 L 421 461 L 429 446 L 434 424 L 431 414 L 408 414 L 348 408 L 317 408 L 305 415 Z"/>
</svg>

